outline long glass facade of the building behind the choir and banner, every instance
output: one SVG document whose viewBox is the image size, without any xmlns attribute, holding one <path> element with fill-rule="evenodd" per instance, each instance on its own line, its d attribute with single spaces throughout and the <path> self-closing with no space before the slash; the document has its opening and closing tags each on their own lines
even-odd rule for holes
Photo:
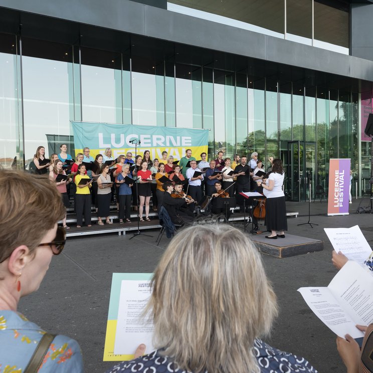
<svg viewBox="0 0 373 373">
<path fill-rule="evenodd" d="M 218 150 L 229 157 L 256 151 L 268 167 L 269 156 L 280 157 L 288 200 L 307 198 L 308 178 L 312 197 L 315 185 L 327 190 L 330 158 L 351 158 L 352 193 L 360 195 L 370 142 L 361 138 L 357 81 L 341 88 L 331 77 L 313 79 L 311 71 L 282 74 L 280 64 L 227 67 L 220 59 L 196 63 L 177 52 L 154 57 L 132 43 L 119 51 L 0 34 L 0 164 L 28 169 L 39 145 L 51 154 L 67 143 L 75 157 L 71 120 L 205 128 L 209 158 Z"/>
</svg>

